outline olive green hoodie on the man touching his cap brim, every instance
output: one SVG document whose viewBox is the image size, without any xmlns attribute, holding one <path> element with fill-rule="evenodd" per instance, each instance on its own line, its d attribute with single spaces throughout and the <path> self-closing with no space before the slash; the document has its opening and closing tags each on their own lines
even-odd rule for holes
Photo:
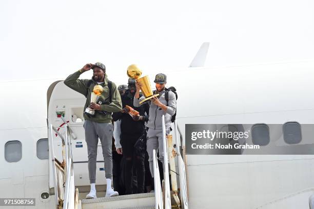
<svg viewBox="0 0 314 209">
<path fill-rule="evenodd" d="M 112 82 L 111 102 L 110 102 L 108 77 L 107 77 L 107 74 L 105 74 L 105 81 L 100 84 L 103 87 L 103 92 L 99 99 L 99 101 L 101 101 L 101 105 L 100 105 L 101 110 L 100 111 L 96 110 L 95 115 L 90 116 L 88 114 L 85 114 L 85 109 L 90 105 L 90 95 L 91 95 L 91 92 L 93 92 L 94 86 L 97 85 L 97 82 L 92 79 L 92 82 L 88 91 L 87 83 L 89 79 L 78 79 L 81 74 L 82 74 L 81 71 L 77 71 L 69 75 L 65 79 L 64 84 L 68 86 L 69 88 L 73 89 L 74 91 L 77 91 L 78 93 L 83 94 L 84 96 L 87 95 L 86 103 L 84 107 L 84 119 L 95 121 L 95 122 L 101 122 L 101 123 L 111 122 L 111 119 L 112 119 L 111 113 L 119 112 L 122 109 L 120 93 L 117 90 L 115 84 Z"/>
</svg>

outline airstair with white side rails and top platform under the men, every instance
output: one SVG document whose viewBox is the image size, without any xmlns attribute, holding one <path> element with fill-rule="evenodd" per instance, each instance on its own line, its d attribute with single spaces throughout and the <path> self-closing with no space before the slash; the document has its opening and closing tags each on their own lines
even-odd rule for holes
<svg viewBox="0 0 314 209">
<path fill-rule="evenodd" d="M 74 169 L 72 160 L 71 140 L 75 137 L 73 130 L 65 124 L 65 133 L 61 134 L 52 124 L 49 126 L 49 160 L 52 163 L 53 190 L 51 194 L 55 198 L 55 208 L 60 209 L 188 209 L 187 183 L 185 163 L 182 156 L 182 133 L 176 121 L 173 123 L 174 140 L 172 135 L 166 136 L 165 117 L 163 122 L 164 160 L 168 166 L 164 168 L 164 180 L 161 184 L 157 161 L 157 154 L 153 151 L 154 163 L 154 193 L 122 195 L 116 197 L 104 197 L 97 191 L 94 199 L 84 199 L 88 189 L 75 186 Z M 57 159 L 53 149 L 53 135 L 62 139 L 62 161 Z M 167 153 L 167 154 L 166 154 Z M 170 171 L 170 173 L 169 173 Z M 171 190 L 170 190 L 171 182 Z M 179 184 L 179 186 L 178 186 Z M 97 186 L 96 186 L 97 188 Z M 80 191 L 81 190 L 81 191 Z"/>
</svg>

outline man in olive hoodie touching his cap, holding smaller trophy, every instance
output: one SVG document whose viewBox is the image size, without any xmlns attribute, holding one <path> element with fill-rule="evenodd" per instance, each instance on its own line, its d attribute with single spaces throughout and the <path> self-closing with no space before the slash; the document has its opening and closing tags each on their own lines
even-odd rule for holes
<svg viewBox="0 0 314 209">
<path fill-rule="evenodd" d="M 93 70 L 92 79 L 78 79 L 80 75 L 90 69 Z M 120 93 L 115 84 L 108 80 L 106 67 L 101 62 L 86 64 L 82 69 L 69 75 L 65 81 L 69 88 L 83 94 L 86 97 L 84 111 L 87 107 L 95 111 L 94 115 L 84 112 L 85 140 L 88 152 L 88 172 L 90 181 L 90 193 L 86 198 L 96 198 L 96 158 L 97 144 L 100 138 L 105 161 L 105 172 L 107 180 L 106 197 L 119 195 L 111 187 L 112 178 L 112 135 L 113 126 L 111 113 L 119 112 L 122 109 Z M 97 103 L 90 103 L 91 92 L 95 85 L 103 87 L 103 92 Z"/>
</svg>

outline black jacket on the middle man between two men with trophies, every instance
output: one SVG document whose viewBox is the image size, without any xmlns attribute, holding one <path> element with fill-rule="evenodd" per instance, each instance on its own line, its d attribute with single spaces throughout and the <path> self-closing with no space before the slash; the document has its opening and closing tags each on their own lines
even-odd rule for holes
<svg viewBox="0 0 314 209">
<path fill-rule="evenodd" d="M 143 134 L 145 129 L 145 123 L 148 121 L 148 113 L 149 113 L 149 105 L 146 103 L 141 107 L 133 106 L 134 95 L 129 93 L 129 90 L 125 92 L 123 96 L 121 96 L 122 100 L 122 108 L 125 108 L 126 105 L 132 107 L 134 110 L 138 111 L 141 116 L 143 116 L 144 120 L 135 121 L 128 113 L 116 112 L 112 114 L 113 121 L 117 121 L 121 119 L 121 134 Z M 145 112 L 147 115 L 145 115 Z"/>
</svg>

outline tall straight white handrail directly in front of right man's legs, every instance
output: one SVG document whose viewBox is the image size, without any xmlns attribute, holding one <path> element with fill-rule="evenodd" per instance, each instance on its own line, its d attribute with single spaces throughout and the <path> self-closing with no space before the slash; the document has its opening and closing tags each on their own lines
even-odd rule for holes
<svg viewBox="0 0 314 209">
<path fill-rule="evenodd" d="M 171 209 L 171 197 L 170 197 L 170 181 L 169 181 L 169 168 L 168 168 L 168 145 L 166 139 L 166 125 L 165 115 L 162 116 L 162 128 L 163 128 L 163 149 L 164 149 L 164 203 L 165 209 Z"/>
</svg>

